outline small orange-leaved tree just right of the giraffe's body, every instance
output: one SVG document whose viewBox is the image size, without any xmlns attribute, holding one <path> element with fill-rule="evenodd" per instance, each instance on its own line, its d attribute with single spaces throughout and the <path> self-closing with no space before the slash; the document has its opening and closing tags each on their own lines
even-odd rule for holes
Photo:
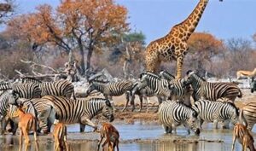
<svg viewBox="0 0 256 151">
<path fill-rule="evenodd" d="M 224 50 L 224 44 L 218 38 L 207 32 L 195 32 L 189 38 L 189 53 L 191 62 L 199 71 L 205 72 L 206 63 L 210 64 L 212 72 L 212 59 Z"/>
</svg>

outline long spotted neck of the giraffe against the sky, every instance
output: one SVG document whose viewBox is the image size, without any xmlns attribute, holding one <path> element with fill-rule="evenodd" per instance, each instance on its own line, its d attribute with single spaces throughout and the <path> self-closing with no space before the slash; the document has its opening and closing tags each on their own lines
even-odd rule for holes
<svg viewBox="0 0 256 151">
<path fill-rule="evenodd" d="M 177 28 L 177 31 L 181 35 L 179 37 L 182 38 L 183 41 L 187 41 L 190 35 L 195 31 L 196 26 L 201 20 L 201 15 L 207 7 L 207 3 L 208 0 L 200 0 L 188 18 L 174 26 L 174 28 Z"/>
</svg>

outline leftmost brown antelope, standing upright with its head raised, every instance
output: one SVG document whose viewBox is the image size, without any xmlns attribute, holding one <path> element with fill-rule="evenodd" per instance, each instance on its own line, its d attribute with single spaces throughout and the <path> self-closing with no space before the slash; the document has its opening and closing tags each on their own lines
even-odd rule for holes
<svg viewBox="0 0 256 151">
<path fill-rule="evenodd" d="M 27 146 L 30 142 L 28 132 L 31 130 L 34 133 L 36 149 L 38 150 L 36 118 L 32 115 L 32 113 L 25 113 L 21 106 L 18 107 L 18 109 L 15 111 L 14 114 L 15 116 L 19 117 L 19 123 L 18 123 L 18 127 L 20 130 L 20 149 L 19 150 L 21 150 L 21 146 L 22 146 L 22 136 L 25 136 L 25 144 L 26 144 L 25 150 L 27 150 Z"/>
</svg>

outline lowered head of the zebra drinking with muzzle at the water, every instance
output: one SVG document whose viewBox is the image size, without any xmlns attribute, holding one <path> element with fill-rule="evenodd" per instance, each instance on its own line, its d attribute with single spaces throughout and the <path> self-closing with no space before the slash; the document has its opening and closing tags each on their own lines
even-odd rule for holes
<svg viewBox="0 0 256 151">
<path fill-rule="evenodd" d="M 198 113 L 196 113 L 195 110 L 192 109 L 192 112 L 189 113 L 188 120 L 185 122 L 185 126 L 188 126 L 189 129 L 195 132 L 195 135 L 199 136 L 201 131 L 197 116 Z"/>
</svg>

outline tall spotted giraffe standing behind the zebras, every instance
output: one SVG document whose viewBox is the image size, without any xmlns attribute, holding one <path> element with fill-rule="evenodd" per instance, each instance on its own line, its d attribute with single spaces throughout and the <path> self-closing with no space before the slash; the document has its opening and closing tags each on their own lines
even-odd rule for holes
<svg viewBox="0 0 256 151">
<path fill-rule="evenodd" d="M 148 44 L 146 48 L 147 71 L 156 73 L 161 61 L 177 61 L 176 78 L 181 78 L 184 56 L 188 53 L 187 41 L 195 31 L 209 0 L 200 0 L 186 20 L 172 27 L 163 38 Z M 222 2 L 222 0 L 219 0 Z"/>
</svg>

